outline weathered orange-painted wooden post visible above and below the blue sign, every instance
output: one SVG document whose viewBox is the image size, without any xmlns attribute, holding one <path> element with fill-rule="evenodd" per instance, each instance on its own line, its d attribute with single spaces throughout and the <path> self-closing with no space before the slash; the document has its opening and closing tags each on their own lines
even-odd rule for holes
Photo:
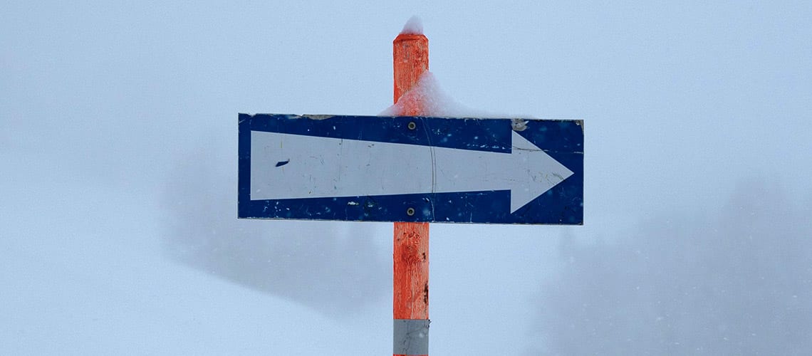
<svg viewBox="0 0 812 356">
<path fill-rule="evenodd" d="M 397 103 L 405 92 L 417 84 L 420 76 L 429 70 L 429 40 L 421 34 L 401 33 L 395 37 L 392 45 L 395 103 Z M 423 114 L 420 102 L 408 103 L 404 109 L 405 112 L 401 114 L 406 116 Z M 395 222 L 393 262 L 392 311 L 395 322 L 415 320 L 419 323 L 423 320 L 427 326 L 429 322 L 429 223 Z M 397 334 L 397 328 L 395 326 L 395 334 Z M 395 335 L 395 337 L 397 336 Z M 423 337 L 422 333 L 420 333 L 420 337 Z M 425 337 L 427 342 L 428 335 Z"/>
</svg>

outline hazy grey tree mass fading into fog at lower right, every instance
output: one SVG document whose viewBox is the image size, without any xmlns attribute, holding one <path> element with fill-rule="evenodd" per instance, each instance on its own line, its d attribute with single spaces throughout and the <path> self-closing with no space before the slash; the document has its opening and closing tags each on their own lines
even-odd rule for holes
<svg viewBox="0 0 812 356">
<path fill-rule="evenodd" d="M 566 239 L 531 354 L 808 353 L 810 212 L 749 181 L 715 216 L 669 215 L 590 246 Z"/>
</svg>

